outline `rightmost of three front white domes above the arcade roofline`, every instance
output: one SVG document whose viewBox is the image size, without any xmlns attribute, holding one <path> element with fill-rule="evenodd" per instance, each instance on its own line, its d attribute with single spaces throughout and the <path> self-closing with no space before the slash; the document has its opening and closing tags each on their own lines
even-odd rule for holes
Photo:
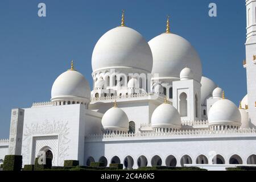
<svg viewBox="0 0 256 182">
<path fill-rule="evenodd" d="M 241 125 L 241 114 L 237 106 L 227 99 L 221 99 L 210 107 L 209 125 Z"/>
</svg>

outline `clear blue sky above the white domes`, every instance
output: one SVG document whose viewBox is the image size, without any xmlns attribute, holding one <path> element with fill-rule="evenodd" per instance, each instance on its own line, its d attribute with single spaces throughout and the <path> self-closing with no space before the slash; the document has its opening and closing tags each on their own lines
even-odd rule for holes
<svg viewBox="0 0 256 182">
<path fill-rule="evenodd" d="M 46 3 L 46 18 L 38 16 L 40 2 Z M 208 16 L 210 2 L 217 4 L 216 18 Z M 147 41 L 165 31 L 169 14 L 171 31 L 199 52 L 203 75 L 237 105 L 245 96 L 245 1 L 1 0 L 0 138 L 9 138 L 11 109 L 49 101 L 55 78 L 72 59 L 92 85 L 93 48 L 106 31 L 119 26 L 122 9 L 126 26 Z"/>
</svg>

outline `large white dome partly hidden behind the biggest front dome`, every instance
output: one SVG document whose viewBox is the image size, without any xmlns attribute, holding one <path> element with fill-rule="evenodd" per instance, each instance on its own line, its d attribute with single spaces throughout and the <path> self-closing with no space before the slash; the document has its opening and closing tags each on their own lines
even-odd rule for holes
<svg viewBox="0 0 256 182">
<path fill-rule="evenodd" d="M 201 81 L 200 57 L 187 40 L 176 34 L 164 33 L 150 40 L 148 44 L 153 55 L 153 74 L 179 79 L 181 70 L 187 66 L 192 69 L 195 80 Z"/>
</svg>

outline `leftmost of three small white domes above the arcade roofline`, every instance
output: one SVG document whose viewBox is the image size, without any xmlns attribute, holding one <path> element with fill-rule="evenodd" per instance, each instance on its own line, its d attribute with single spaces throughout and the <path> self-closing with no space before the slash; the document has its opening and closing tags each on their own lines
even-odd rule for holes
<svg viewBox="0 0 256 182">
<path fill-rule="evenodd" d="M 112 107 L 103 115 L 101 119 L 104 130 L 110 131 L 128 131 L 129 119 L 125 112 L 118 108 Z"/>
</svg>

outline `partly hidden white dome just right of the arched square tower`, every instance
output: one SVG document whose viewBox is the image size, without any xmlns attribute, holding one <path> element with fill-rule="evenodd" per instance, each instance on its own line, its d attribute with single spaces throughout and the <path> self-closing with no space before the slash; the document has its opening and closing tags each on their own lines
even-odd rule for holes
<svg viewBox="0 0 256 182">
<path fill-rule="evenodd" d="M 207 77 L 201 79 L 201 105 L 207 105 L 208 98 L 212 97 L 213 90 L 217 85 Z"/>
</svg>

